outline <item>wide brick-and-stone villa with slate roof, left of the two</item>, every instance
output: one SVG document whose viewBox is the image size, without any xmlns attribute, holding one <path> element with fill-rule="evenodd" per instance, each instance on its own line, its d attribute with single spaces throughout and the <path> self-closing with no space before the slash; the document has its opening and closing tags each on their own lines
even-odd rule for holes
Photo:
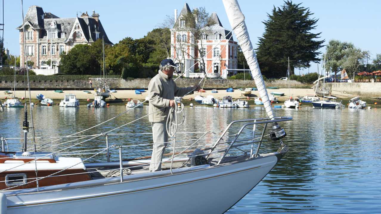
<svg viewBox="0 0 381 214">
<path fill-rule="evenodd" d="M 35 69 L 50 68 L 50 64 L 46 63 L 50 59 L 54 69 L 59 65 L 59 54 L 69 51 L 77 44 L 91 44 L 104 38 L 105 45 L 113 45 L 102 27 L 99 14 L 95 11 L 91 16 L 86 12 L 80 17 L 59 18 L 54 14 L 44 13 L 39 6 L 30 6 L 24 18 L 24 27 L 27 60 L 34 62 Z M 26 62 L 22 25 L 16 29 L 20 32 L 20 66 L 22 66 Z"/>
</svg>

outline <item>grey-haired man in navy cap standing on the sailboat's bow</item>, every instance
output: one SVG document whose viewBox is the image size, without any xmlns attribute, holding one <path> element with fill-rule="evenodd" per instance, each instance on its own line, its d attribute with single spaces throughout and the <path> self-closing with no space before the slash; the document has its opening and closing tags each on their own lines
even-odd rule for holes
<svg viewBox="0 0 381 214">
<path fill-rule="evenodd" d="M 177 66 L 172 59 L 163 59 L 159 65 L 159 73 L 148 85 L 149 121 L 152 124 L 153 150 L 149 170 L 160 171 L 165 147 L 168 142 L 166 120 L 170 107 L 175 107 L 174 96 L 184 96 L 192 90 L 199 90 L 200 85 L 179 88 L 173 81 L 174 68 Z"/>
</svg>

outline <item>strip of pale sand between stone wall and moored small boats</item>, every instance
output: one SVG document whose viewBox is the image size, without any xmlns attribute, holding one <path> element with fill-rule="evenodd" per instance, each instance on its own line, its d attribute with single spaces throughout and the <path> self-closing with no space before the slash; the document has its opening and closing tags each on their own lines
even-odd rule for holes
<svg viewBox="0 0 381 214">
<path fill-rule="evenodd" d="M 189 98 L 194 98 L 195 95 L 203 95 L 207 96 L 209 94 L 212 94 L 215 98 L 221 99 L 224 96 L 232 96 L 233 99 L 246 99 L 246 96 L 242 95 L 242 91 L 235 89 L 233 92 L 226 92 L 226 90 L 217 90 L 218 93 L 211 93 L 211 90 L 206 90 L 205 93 L 194 93 L 189 94 L 184 97 L 184 99 L 189 100 Z M 268 93 L 274 91 L 274 92 L 281 92 L 285 93 L 285 96 L 279 96 L 279 101 L 285 101 L 288 99 L 288 97 L 298 97 L 298 96 L 306 96 L 307 94 L 314 94 L 313 89 L 306 89 L 306 88 L 280 88 L 280 89 L 267 89 Z M 11 91 L 13 93 L 13 91 Z M 75 94 L 77 99 L 94 99 L 94 91 L 90 91 L 90 94 L 84 93 L 83 91 L 78 90 L 64 90 L 63 93 L 56 93 L 54 90 L 32 90 L 30 91 L 30 94 L 32 96 L 32 99 L 36 98 L 37 94 L 43 94 L 47 98 L 51 99 L 63 99 L 65 94 Z M 145 97 L 148 95 L 148 92 L 143 92 L 142 94 L 135 94 L 134 90 L 118 90 L 115 93 L 112 93 L 111 99 L 139 99 L 144 100 Z M 333 96 L 337 96 L 338 98 L 347 99 L 348 97 L 353 97 L 352 94 L 344 94 L 340 93 L 338 91 L 334 91 L 332 93 Z M 12 94 L 1 94 L 0 99 L 4 99 L 5 97 L 11 97 Z M 16 96 L 21 98 L 25 96 L 24 91 L 16 91 Z M 258 91 L 251 91 L 250 99 L 255 98 L 256 96 L 259 96 Z M 29 97 L 29 94 L 27 93 L 26 97 Z"/>
</svg>

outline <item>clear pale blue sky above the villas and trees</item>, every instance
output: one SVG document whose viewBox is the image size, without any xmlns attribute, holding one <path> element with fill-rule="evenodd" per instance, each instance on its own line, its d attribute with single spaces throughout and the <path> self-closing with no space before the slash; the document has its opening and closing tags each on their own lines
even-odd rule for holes
<svg viewBox="0 0 381 214">
<path fill-rule="evenodd" d="M 381 53 L 381 1 L 379 0 L 306 0 L 293 1 L 302 3 L 302 6 L 310 8 L 313 17 L 318 18 L 315 32 L 322 32 L 325 45 L 331 39 L 352 42 L 362 50 L 368 50 L 371 58 Z M 104 26 L 107 36 L 113 43 L 117 43 L 125 37 L 141 38 L 150 30 L 160 26 L 166 15 L 174 16 L 174 9 L 178 13 L 184 6 L 184 1 L 174 0 L 24 0 L 24 15 L 28 7 L 38 5 L 45 12 L 51 12 L 60 18 L 72 18 L 77 11 L 88 12 L 92 10 L 99 13 L 99 19 Z M 231 29 L 221 0 L 194 0 L 188 1 L 191 8 L 205 6 L 206 10 L 216 12 L 227 29 Z M 271 13 L 273 5 L 283 5 L 282 0 L 259 1 L 239 0 L 246 24 L 249 30 L 251 42 L 254 46 L 258 37 L 263 34 L 267 13 Z M 21 1 L 5 0 L 4 42 L 12 54 L 19 55 L 19 35 L 16 27 L 21 25 Z M 78 14 L 80 14 L 78 12 Z M 325 48 L 320 50 L 325 51 Z M 316 72 L 317 65 L 312 65 L 310 72 Z M 296 71 L 298 74 L 298 72 Z M 307 73 L 307 70 L 302 71 Z"/>
</svg>

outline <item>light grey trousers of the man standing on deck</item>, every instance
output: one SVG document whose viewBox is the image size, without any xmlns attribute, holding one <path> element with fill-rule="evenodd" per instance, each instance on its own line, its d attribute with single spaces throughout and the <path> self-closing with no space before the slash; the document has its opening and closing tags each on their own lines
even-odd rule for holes
<svg viewBox="0 0 381 214">
<path fill-rule="evenodd" d="M 168 134 L 166 133 L 166 121 L 151 123 L 152 124 L 152 138 L 154 140 L 153 150 L 152 150 L 152 158 L 151 164 L 149 165 L 149 170 L 160 171 L 162 168 L 162 159 L 165 147 L 168 142 Z M 158 143 L 158 144 L 156 144 Z M 158 163 L 160 162 L 160 163 Z"/>
</svg>

